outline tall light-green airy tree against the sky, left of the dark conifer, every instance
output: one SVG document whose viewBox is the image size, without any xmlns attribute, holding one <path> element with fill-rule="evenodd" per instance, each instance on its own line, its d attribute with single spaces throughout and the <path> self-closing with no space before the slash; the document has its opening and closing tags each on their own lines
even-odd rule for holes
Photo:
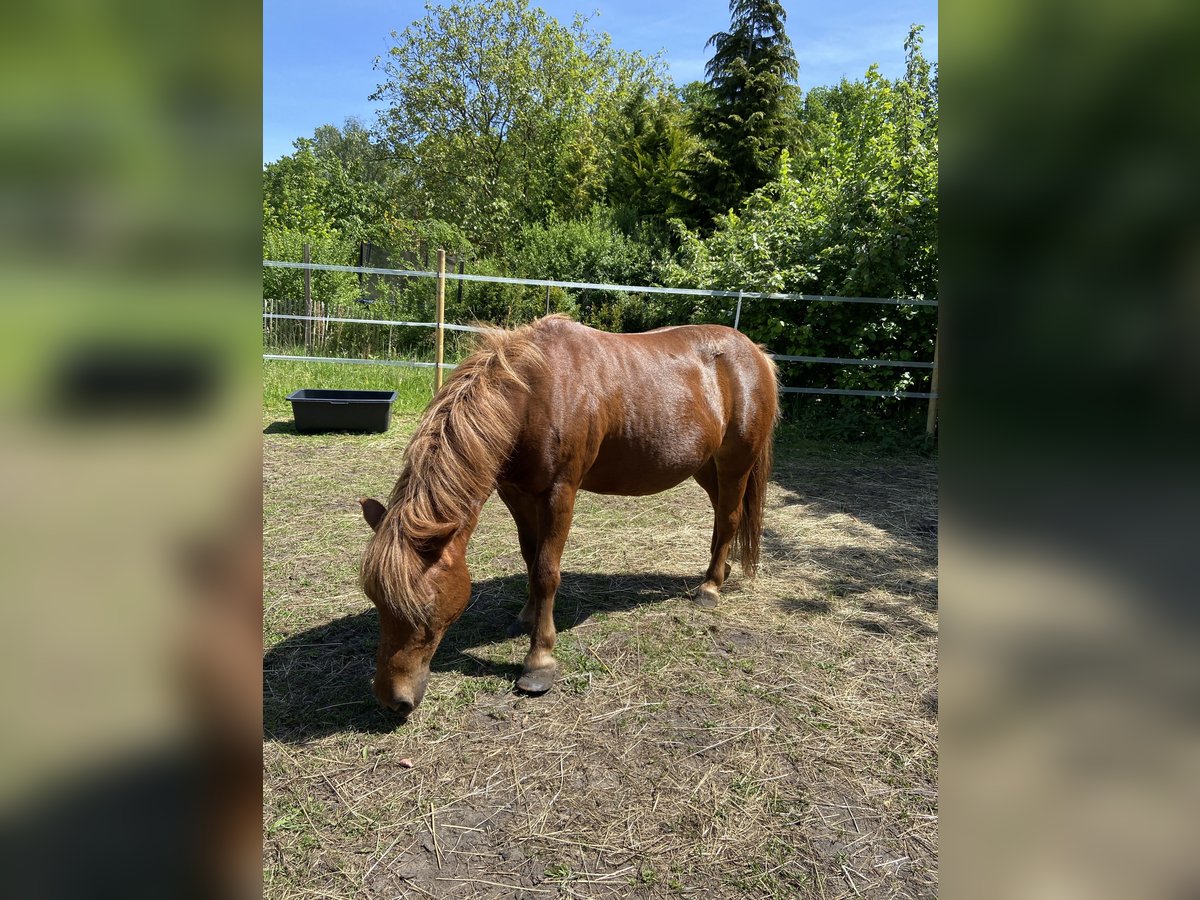
<svg viewBox="0 0 1200 900">
<path fill-rule="evenodd" d="M 392 40 L 376 64 L 379 139 L 412 185 L 414 217 L 458 224 L 484 252 L 504 247 L 514 221 L 586 215 L 612 120 L 662 83 L 658 61 L 527 0 L 426 6 Z"/>
</svg>

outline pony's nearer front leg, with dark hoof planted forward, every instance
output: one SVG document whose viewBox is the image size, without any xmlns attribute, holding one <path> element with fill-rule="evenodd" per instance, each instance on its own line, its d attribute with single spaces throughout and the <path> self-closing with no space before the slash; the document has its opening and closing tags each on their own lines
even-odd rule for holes
<svg viewBox="0 0 1200 900">
<path fill-rule="evenodd" d="M 529 694 L 545 694 L 554 683 L 558 664 L 554 661 L 554 592 L 560 581 L 559 562 L 566 534 L 571 529 L 575 510 L 575 487 L 556 485 L 542 498 L 538 509 L 538 547 L 529 570 L 529 601 L 533 605 L 533 632 L 524 671 L 517 688 Z"/>
</svg>

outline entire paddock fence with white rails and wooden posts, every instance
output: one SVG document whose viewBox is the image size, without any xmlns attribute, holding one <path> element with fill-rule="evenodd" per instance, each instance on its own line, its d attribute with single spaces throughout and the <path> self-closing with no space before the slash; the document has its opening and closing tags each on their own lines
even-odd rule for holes
<svg viewBox="0 0 1200 900">
<path fill-rule="evenodd" d="M 307 250 L 307 247 L 306 247 Z M 307 253 L 306 253 L 307 256 Z M 748 301 L 752 302 L 755 300 L 787 300 L 796 302 L 811 302 L 811 304 L 874 304 L 883 306 L 926 306 L 936 307 L 938 302 L 936 300 L 922 300 L 922 299 L 904 299 L 904 298 L 866 298 L 866 296 L 834 296 L 826 294 L 786 294 L 786 293 L 762 293 L 754 290 L 709 290 L 703 288 L 670 288 L 659 287 L 649 284 L 601 284 L 593 282 L 576 282 L 576 281 L 554 281 L 550 278 L 514 278 L 508 276 L 498 275 L 472 275 L 463 271 L 463 265 L 461 260 L 457 262 L 457 266 L 451 266 L 451 270 L 446 270 L 446 254 L 443 251 L 438 251 L 438 269 L 436 271 L 419 270 L 419 269 L 385 269 L 374 268 L 366 265 L 332 265 L 326 263 L 293 263 L 282 262 L 276 259 L 264 259 L 263 266 L 269 269 L 292 269 L 300 270 L 302 274 L 302 299 L 294 300 L 292 302 L 281 301 L 280 298 L 265 298 L 264 299 L 264 332 L 271 343 L 275 344 L 292 344 L 300 347 L 302 342 L 304 353 L 302 354 L 283 354 L 283 353 L 264 353 L 264 360 L 293 360 L 298 362 L 334 362 L 343 365 L 373 365 L 373 366 L 398 366 L 398 367 L 413 367 L 413 368 L 432 368 L 434 370 L 436 384 L 440 386 L 442 373 L 445 370 L 452 370 L 455 366 L 451 362 L 443 361 L 443 342 L 445 332 L 472 332 L 472 331 L 485 331 L 486 328 L 480 328 L 475 325 L 462 325 L 456 323 L 448 323 L 444 320 L 444 304 L 443 298 L 445 294 L 446 282 L 458 282 L 460 292 L 461 284 L 464 282 L 481 282 L 481 283 L 494 283 L 494 284 L 514 284 L 514 286 L 526 286 L 526 287 L 541 287 L 546 288 L 546 306 L 547 312 L 550 310 L 550 290 L 552 288 L 558 288 L 560 290 L 605 290 L 605 292 L 623 292 L 629 294 L 672 294 L 679 296 L 700 296 L 700 298 L 724 298 L 728 300 L 736 300 L 736 306 L 732 310 L 732 326 L 738 329 L 742 320 L 743 305 Z M 457 271 L 454 271 L 457 268 Z M 416 322 L 416 320 L 401 320 L 401 319 L 389 319 L 389 318 L 371 318 L 371 317 L 340 317 L 340 316 L 328 316 L 324 310 L 324 305 L 319 300 L 313 299 L 312 293 L 312 275 L 314 272 L 342 272 L 358 275 L 360 280 L 362 277 L 373 278 L 401 278 L 401 280 L 436 280 L 436 292 L 437 292 L 437 308 L 433 320 L 431 322 Z M 282 308 L 301 308 L 304 312 L 278 312 Z M 290 325 L 290 329 L 288 328 Z M 280 330 L 282 328 L 282 334 Z M 410 348 L 413 344 L 408 341 L 396 341 L 394 340 L 394 329 L 432 329 L 436 342 L 436 360 L 430 362 L 425 360 L 413 360 L 413 359 L 372 359 L 367 356 L 322 356 L 311 355 L 313 347 L 320 347 L 326 342 L 326 337 L 330 332 L 330 328 L 365 328 L 376 329 L 385 328 L 388 329 L 386 343 L 379 342 L 377 344 L 366 344 L 368 352 L 382 352 L 388 356 L 391 356 L 396 352 Z M 853 396 L 853 397 L 890 397 L 900 400 L 924 400 L 929 404 L 929 413 L 926 416 L 925 430 L 932 434 L 937 427 L 937 336 L 935 334 L 934 343 L 934 359 L 930 361 L 922 360 L 892 360 L 892 359 L 854 359 L 854 358 L 841 358 L 841 356 L 799 356 L 790 354 L 768 354 L 772 359 L 780 362 L 808 362 L 808 364 L 822 364 L 822 365 L 835 365 L 835 366 L 883 366 L 883 367 L 899 367 L 906 370 L 930 370 L 931 371 L 931 390 L 929 391 L 907 391 L 907 390 L 854 390 L 844 388 L 812 388 L 812 386 L 793 386 L 793 385 L 781 385 L 780 391 L 785 394 L 810 394 L 810 395 L 832 395 L 832 396 Z"/>
</svg>

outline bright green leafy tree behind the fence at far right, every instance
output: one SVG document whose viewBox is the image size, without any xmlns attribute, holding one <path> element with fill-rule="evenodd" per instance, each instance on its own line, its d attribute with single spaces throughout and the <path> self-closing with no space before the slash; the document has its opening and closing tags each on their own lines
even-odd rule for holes
<svg viewBox="0 0 1200 900">
<path fill-rule="evenodd" d="M 703 236 L 684 235 L 670 278 L 680 286 L 866 298 L 937 296 L 937 78 L 906 42 L 908 66 L 892 82 L 871 67 L 862 82 L 814 89 L 803 126 L 810 150 Z M 731 305 L 700 302 L 716 322 Z M 726 319 L 728 320 L 728 319 Z M 935 310 L 917 306 L 748 300 L 742 329 L 776 353 L 930 360 Z M 922 390 L 928 370 L 784 364 L 785 383 Z M 860 427 L 868 419 L 919 415 L 854 398 L 826 402 Z M 883 413 L 881 416 L 880 414 Z"/>
</svg>

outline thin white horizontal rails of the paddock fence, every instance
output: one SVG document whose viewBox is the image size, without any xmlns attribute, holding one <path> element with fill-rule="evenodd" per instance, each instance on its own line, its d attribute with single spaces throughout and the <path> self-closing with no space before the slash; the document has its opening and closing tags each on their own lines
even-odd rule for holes
<svg viewBox="0 0 1200 900">
<path fill-rule="evenodd" d="M 677 294 L 685 296 L 719 296 L 736 299 L 738 301 L 737 310 L 734 312 L 734 328 L 742 318 L 742 304 L 744 300 L 794 300 L 804 302 L 830 302 L 830 304 L 877 304 L 883 306 L 934 306 L 938 304 L 936 300 L 914 299 L 914 298 L 901 298 L 901 299 L 888 299 L 888 298 L 868 298 L 868 296 L 832 296 L 826 294 L 769 294 L 762 292 L 751 290 L 704 290 L 701 288 L 665 288 L 658 286 L 648 284 L 599 284 L 592 282 L 578 282 L 578 281 L 553 281 L 550 278 L 510 278 L 498 275 L 466 275 L 455 274 L 445 271 L 420 271 L 415 269 L 376 269 L 370 266 L 359 265 L 330 265 L 324 263 L 287 263 L 275 259 L 264 259 L 263 265 L 270 269 L 300 269 L 308 271 L 332 271 L 332 272 L 349 272 L 359 275 L 389 275 L 400 277 L 412 277 L 412 278 L 438 278 L 439 282 L 445 281 L 474 281 L 474 282 L 491 282 L 499 284 L 522 284 L 529 287 L 545 287 L 545 288 L 565 288 L 574 290 L 619 290 L 625 293 L 638 293 L 638 294 Z M 362 325 L 386 325 L 386 326 L 398 326 L 398 328 L 432 328 L 432 329 L 444 329 L 449 331 L 486 331 L 486 328 L 478 328 L 475 325 L 456 325 L 450 323 L 438 323 L 438 322 L 397 322 L 392 319 L 350 319 L 350 318 L 336 318 L 328 316 L 289 316 L 282 313 L 263 313 L 264 319 L 292 319 L 298 322 L 332 322 L 332 323 L 347 323 L 347 324 L 362 324 Z M 808 362 L 808 364 L 826 364 L 826 365 L 839 365 L 839 366 L 890 366 L 898 368 L 928 368 L 934 372 L 934 390 L 925 391 L 884 391 L 884 390 L 851 390 L 844 388 L 780 388 L 784 394 L 821 394 L 832 396 L 846 396 L 846 397 L 892 397 L 902 400 L 928 400 L 930 402 L 930 430 L 932 428 L 932 422 L 936 416 L 936 402 L 938 398 L 937 392 L 937 354 L 935 352 L 932 362 L 925 362 L 920 360 L 881 360 L 881 359 L 850 359 L 840 356 L 794 356 L 788 354 L 768 354 L 772 359 L 779 362 Z M 295 360 L 304 362 L 340 362 L 340 364 L 361 364 L 361 365 L 378 365 L 378 366 L 400 366 L 400 367 L 414 367 L 414 368 L 438 368 L 437 362 L 422 362 L 418 360 L 377 360 L 377 359 L 348 359 L 340 356 L 292 356 L 284 354 L 263 354 L 263 359 L 268 360 Z M 455 366 L 451 364 L 442 364 L 440 368 L 450 370 Z"/>
</svg>

